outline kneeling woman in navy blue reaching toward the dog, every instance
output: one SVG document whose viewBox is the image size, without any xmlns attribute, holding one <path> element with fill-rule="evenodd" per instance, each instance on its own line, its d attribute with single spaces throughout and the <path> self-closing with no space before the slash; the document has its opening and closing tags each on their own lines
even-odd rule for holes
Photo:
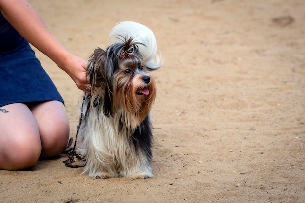
<svg viewBox="0 0 305 203">
<path fill-rule="evenodd" d="M 29 43 L 81 90 L 87 62 L 68 52 L 26 0 L 0 0 L 0 169 L 33 166 L 61 153 L 69 138 L 64 101 Z"/>
</svg>

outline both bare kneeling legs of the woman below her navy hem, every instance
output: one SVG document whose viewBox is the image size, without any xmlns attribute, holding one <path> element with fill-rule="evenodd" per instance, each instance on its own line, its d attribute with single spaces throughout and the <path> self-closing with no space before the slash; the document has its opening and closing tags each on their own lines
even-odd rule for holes
<svg viewBox="0 0 305 203">
<path fill-rule="evenodd" d="M 69 121 L 59 101 L 9 104 L 0 109 L 0 169 L 33 166 L 39 157 L 62 152 L 69 138 Z"/>
</svg>

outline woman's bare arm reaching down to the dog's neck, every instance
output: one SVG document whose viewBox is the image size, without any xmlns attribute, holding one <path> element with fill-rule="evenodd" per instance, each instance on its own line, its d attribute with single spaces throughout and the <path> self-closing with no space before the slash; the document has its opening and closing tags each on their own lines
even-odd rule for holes
<svg viewBox="0 0 305 203">
<path fill-rule="evenodd" d="M 90 86 L 87 61 L 68 52 L 26 0 L 0 0 L 0 10 L 19 34 L 69 74 L 79 89 Z"/>
</svg>

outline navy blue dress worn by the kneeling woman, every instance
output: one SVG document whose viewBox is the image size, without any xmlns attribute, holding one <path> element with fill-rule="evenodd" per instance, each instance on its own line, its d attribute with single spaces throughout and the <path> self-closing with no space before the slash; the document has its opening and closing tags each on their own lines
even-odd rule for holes
<svg viewBox="0 0 305 203">
<path fill-rule="evenodd" d="M 29 43 L 0 12 L 0 107 L 50 100 L 64 103 Z"/>
</svg>

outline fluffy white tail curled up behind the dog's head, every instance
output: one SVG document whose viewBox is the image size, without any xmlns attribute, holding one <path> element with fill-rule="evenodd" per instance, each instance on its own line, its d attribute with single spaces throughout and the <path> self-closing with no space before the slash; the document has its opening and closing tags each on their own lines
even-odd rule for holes
<svg viewBox="0 0 305 203">
<path fill-rule="evenodd" d="M 137 44 L 137 46 L 147 68 L 153 71 L 162 67 L 161 52 L 157 48 L 157 41 L 151 29 L 137 22 L 123 21 L 117 23 L 109 34 L 113 40 L 117 40 L 118 36 L 127 39 L 132 37 L 133 42 L 144 44 Z"/>
</svg>

